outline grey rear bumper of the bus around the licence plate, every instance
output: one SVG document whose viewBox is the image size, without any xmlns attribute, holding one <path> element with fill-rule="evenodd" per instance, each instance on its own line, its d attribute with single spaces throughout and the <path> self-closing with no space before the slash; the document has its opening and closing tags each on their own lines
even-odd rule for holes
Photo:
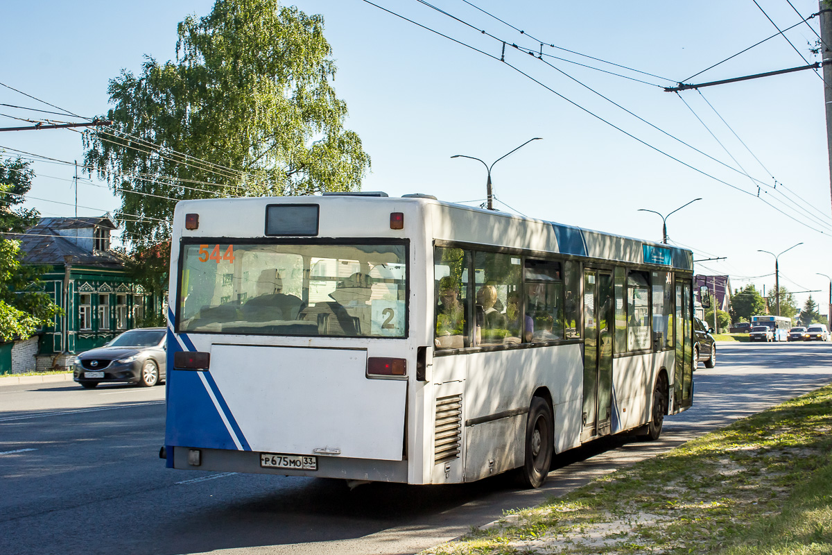
<svg viewBox="0 0 832 555">
<path fill-rule="evenodd" d="M 171 447 L 168 447 L 171 449 Z M 240 472 L 252 474 L 277 474 L 280 476 L 308 476 L 310 478 L 343 478 L 369 482 L 408 483 L 408 462 L 374 460 L 368 458 L 318 457 L 317 470 L 290 470 L 288 468 L 263 468 L 259 451 L 230 449 L 196 449 L 173 447 L 167 452 L 168 466 L 181 470 L 209 470 L 213 472 Z M 192 451 L 199 451 L 195 455 Z M 198 462 L 198 464 L 191 464 Z"/>
</svg>

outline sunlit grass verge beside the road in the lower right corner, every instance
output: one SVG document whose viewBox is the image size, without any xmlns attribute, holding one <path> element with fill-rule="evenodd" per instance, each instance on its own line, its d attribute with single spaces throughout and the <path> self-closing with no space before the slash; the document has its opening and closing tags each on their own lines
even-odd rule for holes
<svg viewBox="0 0 832 555">
<path fill-rule="evenodd" d="M 428 553 L 832 553 L 832 386 Z"/>
</svg>

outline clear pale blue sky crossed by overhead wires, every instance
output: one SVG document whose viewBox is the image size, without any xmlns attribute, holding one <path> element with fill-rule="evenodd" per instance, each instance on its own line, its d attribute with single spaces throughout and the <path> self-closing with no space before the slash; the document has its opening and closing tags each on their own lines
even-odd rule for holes
<svg viewBox="0 0 832 555">
<path fill-rule="evenodd" d="M 206 15 L 212 3 L 14 2 L 4 8 L 0 82 L 82 116 L 104 114 L 107 82 L 122 68 L 141 71 L 145 54 L 160 62 L 174 57 L 176 23 L 188 13 Z M 734 288 L 754 283 L 770 290 L 774 258 L 757 250 L 779 253 L 803 241 L 780 258 L 781 285 L 792 291 L 820 290 L 813 298 L 826 312 L 829 280 L 815 275 L 832 275 L 830 174 L 820 77 L 812 71 L 795 72 L 707 87 L 701 94 L 676 95 L 662 89 L 775 34 L 760 7 L 781 29 L 800 22 L 786 0 L 757 0 L 760 7 L 753 0 L 472 0 L 473 6 L 463 0 L 430 2 L 475 28 L 417 0 L 375 2 L 458 42 L 363 0 L 292 3 L 324 16 L 338 67 L 335 89 L 349 107 L 347 126 L 358 132 L 373 160 L 364 190 L 391 196 L 423 192 L 478 205 L 485 198 L 485 168 L 450 156 L 475 156 L 490 164 L 541 136 L 542 141 L 494 166 L 500 210 L 661 240 L 661 218 L 638 209 L 667 214 L 702 197 L 667 220 L 671 242 L 694 250 L 696 260 L 726 257 L 698 264 L 697 272 L 728 274 Z M 818 11 L 813 0 L 791 4 L 803 17 Z M 817 31 L 818 19 L 810 20 L 810 26 Z M 502 42 L 480 30 L 509 44 L 539 51 L 537 41 L 543 41 L 650 75 L 550 46 L 542 48 L 544 61 L 509 46 L 508 63 L 503 63 Z M 809 26 L 800 24 L 785 35 L 809 62 L 818 61 L 809 52 L 810 43 L 817 40 Z M 687 82 L 801 65 L 805 62 L 789 42 L 775 37 Z M 5 87 L 0 87 L 0 102 L 51 109 Z M 37 116 L 0 108 L 8 116 Z M 0 116 L 0 126 L 18 123 Z M 750 177 L 676 139 L 727 166 L 744 168 L 765 184 L 760 198 L 783 213 L 757 199 L 758 184 Z M 0 133 L 0 146 L 64 161 L 80 161 L 83 155 L 80 136 L 65 130 Z M 44 216 L 72 216 L 72 167 L 38 163 L 35 168 L 38 176 L 31 196 L 68 204 L 32 200 L 29 206 Z M 771 188 L 775 180 L 777 191 Z M 784 186 L 785 196 L 780 192 Z M 109 191 L 83 182 L 78 204 L 82 216 L 118 206 Z M 796 296 L 802 305 L 808 295 Z"/>
</svg>

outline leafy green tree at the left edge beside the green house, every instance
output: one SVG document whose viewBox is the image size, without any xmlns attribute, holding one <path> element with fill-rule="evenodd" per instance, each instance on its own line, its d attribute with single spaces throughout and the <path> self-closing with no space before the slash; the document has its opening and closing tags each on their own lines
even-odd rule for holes
<svg viewBox="0 0 832 555">
<path fill-rule="evenodd" d="M 32 177 L 29 162 L 0 160 L 0 338 L 4 341 L 30 337 L 61 311 L 42 291 L 44 269 L 21 265 L 20 242 L 6 235 L 23 233 L 37 223 L 37 211 L 14 209 L 32 187 Z"/>
</svg>

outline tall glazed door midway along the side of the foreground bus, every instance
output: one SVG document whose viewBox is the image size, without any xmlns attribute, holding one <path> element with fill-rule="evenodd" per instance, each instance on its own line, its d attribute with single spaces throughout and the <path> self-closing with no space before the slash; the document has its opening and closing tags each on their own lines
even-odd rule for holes
<svg viewBox="0 0 832 555">
<path fill-rule="evenodd" d="M 583 273 L 583 429 L 581 440 L 611 432 L 612 416 L 612 273 Z"/>
</svg>

